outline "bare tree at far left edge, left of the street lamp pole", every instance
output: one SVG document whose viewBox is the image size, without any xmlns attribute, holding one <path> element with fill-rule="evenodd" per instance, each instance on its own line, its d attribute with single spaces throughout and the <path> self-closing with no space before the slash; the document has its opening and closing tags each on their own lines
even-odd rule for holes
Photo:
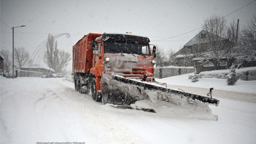
<svg viewBox="0 0 256 144">
<path fill-rule="evenodd" d="M 1 53 L 1 56 L 3 57 L 3 59 L 4 59 L 4 70 L 5 70 L 5 73 L 8 76 L 11 76 L 12 75 L 12 61 L 10 60 L 11 52 L 9 50 L 1 49 L 0 53 Z"/>
</svg>

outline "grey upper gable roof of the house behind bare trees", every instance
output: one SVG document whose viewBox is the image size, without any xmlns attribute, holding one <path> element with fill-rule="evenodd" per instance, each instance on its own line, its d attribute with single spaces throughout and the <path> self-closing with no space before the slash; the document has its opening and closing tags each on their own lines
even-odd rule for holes
<svg viewBox="0 0 256 144">
<path fill-rule="evenodd" d="M 188 41 L 187 44 L 185 44 L 184 46 L 189 46 L 189 45 L 193 45 L 193 44 L 200 44 L 200 43 L 206 43 L 209 42 L 209 40 L 207 40 L 207 38 L 205 38 L 206 35 L 209 35 L 212 33 L 207 32 L 205 30 L 202 30 L 200 33 L 198 33 L 195 37 L 193 37 L 190 41 Z M 217 36 L 217 35 L 216 35 Z M 225 38 L 218 36 L 218 39 L 220 40 L 226 40 Z"/>
</svg>

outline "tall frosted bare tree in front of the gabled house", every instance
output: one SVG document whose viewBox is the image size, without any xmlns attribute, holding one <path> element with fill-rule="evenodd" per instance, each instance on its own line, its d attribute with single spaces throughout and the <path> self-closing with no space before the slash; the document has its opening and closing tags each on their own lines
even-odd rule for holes
<svg viewBox="0 0 256 144">
<path fill-rule="evenodd" d="M 226 43 L 225 30 L 226 30 L 226 19 L 223 17 L 212 15 L 210 18 L 204 20 L 203 30 L 206 33 L 206 39 L 209 41 L 206 51 L 202 53 L 204 57 L 212 59 L 212 63 L 216 68 L 220 66 L 220 59 L 225 56 Z"/>
</svg>

